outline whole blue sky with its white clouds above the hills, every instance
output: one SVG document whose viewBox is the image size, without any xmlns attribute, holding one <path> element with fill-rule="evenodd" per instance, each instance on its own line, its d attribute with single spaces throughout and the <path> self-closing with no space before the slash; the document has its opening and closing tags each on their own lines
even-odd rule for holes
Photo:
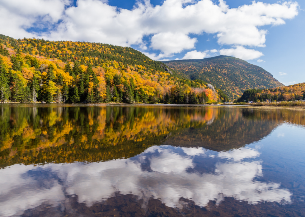
<svg viewBox="0 0 305 217">
<path fill-rule="evenodd" d="M 289 85 L 305 82 L 304 9 L 277 0 L 2 0 L 0 29 L 130 46 L 155 60 L 235 56 Z"/>
</svg>

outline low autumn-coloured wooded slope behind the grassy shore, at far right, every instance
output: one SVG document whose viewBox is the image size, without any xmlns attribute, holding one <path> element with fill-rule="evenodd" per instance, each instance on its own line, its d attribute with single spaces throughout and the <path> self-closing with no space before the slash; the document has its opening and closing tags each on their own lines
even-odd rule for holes
<svg viewBox="0 0 305 217">
<path fill-rule="evenodd" d="M 246 90 L 237 102 L 270 102 L 305 100 L 305 83 L 293 84 L 287 87 Z"/>
</svg>

